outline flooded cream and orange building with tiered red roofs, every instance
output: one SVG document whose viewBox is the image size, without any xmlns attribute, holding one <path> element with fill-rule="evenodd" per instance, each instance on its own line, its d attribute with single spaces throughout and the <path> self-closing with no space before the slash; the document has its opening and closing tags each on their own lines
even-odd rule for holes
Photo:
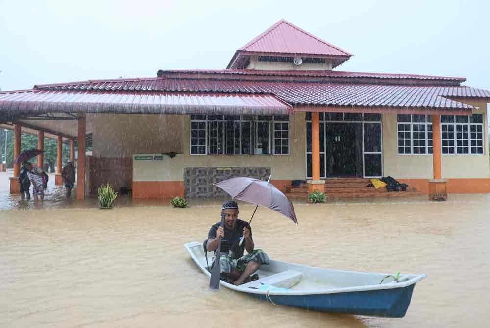
<svg viewBox="0 0 490 328">
<path fill-rule="evenodd" d="M 425 193 L 490 192 L 490 91 L 336 69 L 351 56 L 281 20 L 223 70 L 2 92 L 0 122 L 15 127 L 17 153 L 22 129 L 76 139 L 79 199 L 106 181 L 134 198 L 212 197 L 215 182 L 270 174 L 284 191 L 392 176 Z"/>
</svg>

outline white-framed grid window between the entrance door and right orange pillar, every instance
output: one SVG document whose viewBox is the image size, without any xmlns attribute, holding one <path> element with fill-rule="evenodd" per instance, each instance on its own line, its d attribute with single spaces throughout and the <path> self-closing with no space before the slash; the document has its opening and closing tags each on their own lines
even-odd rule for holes
<svg viewBox="0 0 490 328">
<path fill-rule="evenodd" d="M 432 154 L 432 117 L 398 114 L 398 154 Z"/>
</svg>

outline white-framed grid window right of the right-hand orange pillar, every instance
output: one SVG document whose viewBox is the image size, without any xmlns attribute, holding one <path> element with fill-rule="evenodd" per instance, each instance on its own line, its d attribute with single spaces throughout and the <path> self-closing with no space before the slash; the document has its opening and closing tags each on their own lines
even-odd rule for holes
<svg viewBox="0 0 490 328">
<path fill-rule="evenodd" d="M 483 154 L 483 114 L 441 115 L 442 154 Z"/>
</svg>

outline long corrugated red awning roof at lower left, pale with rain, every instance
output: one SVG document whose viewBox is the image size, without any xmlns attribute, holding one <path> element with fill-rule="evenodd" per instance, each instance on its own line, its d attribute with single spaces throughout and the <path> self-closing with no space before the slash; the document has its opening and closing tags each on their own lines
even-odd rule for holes
<svg viewBox="0 0 490 328">
<path fill-rule="evenodd" d="M 268 115 L 293 108 L 271 94 L 24 90 L 0 93 L 0 118 L 6 111 Z"/>
</svg>

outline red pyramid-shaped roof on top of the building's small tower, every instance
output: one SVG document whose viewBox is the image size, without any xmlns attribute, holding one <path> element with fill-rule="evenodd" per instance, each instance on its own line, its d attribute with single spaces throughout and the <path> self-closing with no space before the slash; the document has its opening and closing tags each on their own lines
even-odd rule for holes
<svg viewBox="0 0 490 328">
<path fill-rule="evenodd" d="M 250 54 L 303 55 L 337 58 L 335 66 L 349 59 L 352 54 L 336 47 L 285 20 L 272 25 L 265 32 L 237 50 L 227 68 L 243 66 L 241 57 Z"/>
</svg>

